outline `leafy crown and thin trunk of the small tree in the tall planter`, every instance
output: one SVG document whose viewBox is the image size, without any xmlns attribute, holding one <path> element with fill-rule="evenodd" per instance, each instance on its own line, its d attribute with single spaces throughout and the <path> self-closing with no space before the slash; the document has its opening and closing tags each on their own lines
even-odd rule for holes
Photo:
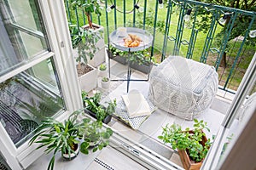
<svg viewBox="0 0 256 170">
<path fill-rule="evenodd" d="M 98 0 L 71 0 L 71 4 L 73 8 L 79 7 L 83 9 L 84 14 L 87 17 L 90 28 L 92 28 L 92 22 L 90 18 L 91 14 L 95 13 L 99 16 L 102 15 L 101 6 L 100 6 L 100 3 L 98 2 L 99 2 Z"/>
</svg>

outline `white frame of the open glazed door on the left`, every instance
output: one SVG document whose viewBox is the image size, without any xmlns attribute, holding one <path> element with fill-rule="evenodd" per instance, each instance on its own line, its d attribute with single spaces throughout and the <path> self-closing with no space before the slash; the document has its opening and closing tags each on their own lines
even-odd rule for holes
<svg viewBox="0 0 256 170">
<path fill-rule="evenodd" d="M 40 54 L 39 56 L 29 60 L 26 65 L 21 65 L 14 71 L 8 72 L 0 77 L 0 82 L 3 82 L 10 77 L 14 77 L 22 71 L 26 71 L 26 69 L 31 68 L 33 65 L 37 65 L 44 59 L 53 57 L 55 60 L 55 68 L 61 83 L 61 92 L 67 108 L 65 113 L 56 118 L 61 121 L 66 119 L 73 111 L 82 108 L 82 101 L 80 97 L 81 90 L 79 88 L 78 75 L 73 59 L 65 5 L 61 0 L 38 0 L 38 3 L 43 15 L 44 26 L 48 36 L 51 52 Z M 9 167 L 12 169 L 24 169 L 44 153 L 44 149 L 35 150 L 38 144 L 32 144 L 32 146 L 29 146 L 28 141 L 16 148 L 1 123 L 0 134 L 0 150 L 3 152 L 3 159 L 7 161 Z"/>
</svg>

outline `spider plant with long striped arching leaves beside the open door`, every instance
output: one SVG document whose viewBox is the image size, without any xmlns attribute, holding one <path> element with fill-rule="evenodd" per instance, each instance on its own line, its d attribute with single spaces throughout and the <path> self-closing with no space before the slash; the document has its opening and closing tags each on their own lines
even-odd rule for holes
<svg viewBox="0 0 256 170">
<path fill-rule="evenodd" d="M 35 130 L 35 134 L 29 141 L 29 144 L 40 144 L 37 149 L 47 146 L 44 152 L 49 154 L 54 152 L 49 161 L 47 169 L 53 169 L 55 164 L 55 154 L 61 151 L 61 155 L 75 153 L 75 145 L 79 144 L 79 123 L 76 122 L 78 112 L 74 112 L 72 116 L 64 122 L 58 122 L 54 118 L 48 118 L 42 121 L 42 124 Z"/>
</svg>

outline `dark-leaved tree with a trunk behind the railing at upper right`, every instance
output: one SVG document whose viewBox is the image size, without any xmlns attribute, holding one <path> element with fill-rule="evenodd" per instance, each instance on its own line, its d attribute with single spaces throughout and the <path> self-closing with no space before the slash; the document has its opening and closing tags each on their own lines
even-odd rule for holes
<svg viewBox="0 0 256 170">
<path fill-rule="evenodd" d="M 201 2 L 203 3 L 211 3 L 211 4 L 216 4 L 216 5 L 221 5 L 221 6 L 225 6 L 225 7 L 229 7 L 229 8 L 239 8 L 242 10 L 246 10 L 246 11 L 256 11 L 256 0 L 201 0 Z M 224 11 L 226 12 L 226 11 Z M 207 10 L 204 9 L 200 9 L 198 11 L 199 16 L 201 16 L 201 21 L 197 22 L 196 25 L 198 26 L 198 29 L 200 31 L 205 31 L 207 32 L 208 29 L 210 28 L 210 24 L 211 24 L 211 15 L 212 13 L 208 12 Z M 247 28 L 249 26 L 249 23 L 251 22 L 252 17 L 248 16 L 248 15 L 244 15 L 244 14 L 239 14 L 236 17 L 236 20 L 234 22 L 234 26 L 232 28 L 230 37 L 228 39 L 228 42 L 230 42 L 230 40 L 239 37 L 239 36 L 243 36 L 245 34 L 245 31 L 247 31 Z M 222 26 L 223 29 L 218 32 L 218 34 L 215 37 L 215 43 L 220 45 L 221 42 L 221 37 L 224 36 L 224 33 L 227 29 L 227 25 L 230 22 L 230 17 L 227 17 L 227 20 L 224 24 L 221 24 L 218 21 L 219 26 Z M 256 29 L 256 20 L 254 20 L 253 22 L 253 27 L 251 30 L 255 30 Z M 256 44 L 256 38 L 251 38 L 251 37 L 247 37 L 247 43 L 250 45 L 255 46 Z M 229 48 L 229 45 L 227 46 L 227 50 Z M 221 60 L 221 65 L 226 67 L 226 51 L 224 51 L 222 60 Z"/>
</svg>

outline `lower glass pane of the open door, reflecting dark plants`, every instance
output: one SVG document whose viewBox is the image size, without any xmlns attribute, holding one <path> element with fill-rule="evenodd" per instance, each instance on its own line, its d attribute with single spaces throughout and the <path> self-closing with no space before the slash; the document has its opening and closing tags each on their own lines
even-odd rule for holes
<svg viewBox="0 0 256 170">
<path fill-rule="evenodd" d="M 0 122 L 16 146 L 23 144 L 45 117 L 64 111 L 52 60 L 0 83 Z"/>
</svg>

